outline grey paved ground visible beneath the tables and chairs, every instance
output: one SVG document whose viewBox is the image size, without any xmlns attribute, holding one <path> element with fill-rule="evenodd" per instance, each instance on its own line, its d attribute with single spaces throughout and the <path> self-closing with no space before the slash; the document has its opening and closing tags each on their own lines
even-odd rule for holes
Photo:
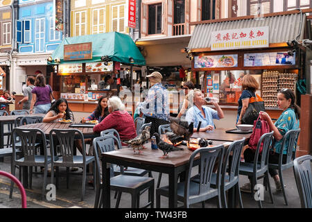
<svg viewBox="0 0 312 222">
<path fill-rule="evenodd" d="M 10 172 L 10 157 L 5 157 L 4 162 L 0 162 L 0 170 Z M 79 171 L 78 171 L 79 172 Z M 158 173 L 153 172 L 155 183 L 157 182 Z M 50 180 L 50 177 L 48 178 Z M 270 197 L 268 191 L 265 191 L 265 201 L 263 201 L 263 207 L 266 208 L 295 208 L 300 207 L 300 198 L 297 193 L 297 187 L 295 185 L 295 179 L 293 176 L 293 169 L 284 171 L 284 180 L 286 183 L 286 194 L 288 198 L 288 205 L 284 205 L 284 198 L 281 193 L 275 193 L 275 204 L 270 203 Z M 248 179 L 245 176 L 240 177 L 240 184 L 243 185 Z M 73 175 L 70 178 L 69 189 L 66 188 L 66 178 L 60 178 L 60 188 L 56 191 L 56 200 L 41 200 L 42 191 L 42 175 L 33 176 L 33 189 L 26 189 L 27 205 L 29 208 L 68 208 L 68 207 L 83 207 L 92 208 L 94 205 L 95 192 L 92 186 L 86 185 L 85 200 L 80 201 L 81 194 L 81 176 Z M 274 181 L 271 179 L 272 190 L 275 191 Z M 162 186 L 168 184 L 168 176 L 163 174 Z M 49 191 L 49 190 L 46 190 Z M 21 195 L 17 187 L 14 189 L 13 198 L 9 198 L 10 193 L 10 180 L 7 178 L 0 178 L 0 208 L 1 207 L 21 207 Z M 116 203 L 116 200 L 112 196 L 112 207 Z M 245 208 L 257 208 L 257 203 L 252 198 L 251 194 L 243 194 L 243 206 Z M 123 194 L 121 198 L 120 207 L 130 207 L 130 195 Z M 147 201 L 147 192 L 141 196 L 141 205 L 144 205 Z M 161 207 L 168 207 L 168 198 L 162 197 Z M 201 204 L 195 204 L 191 207 L 200 208 Z M 206 207 L 216 208 L 216 199 L 207 201 Z"/>
</svg>

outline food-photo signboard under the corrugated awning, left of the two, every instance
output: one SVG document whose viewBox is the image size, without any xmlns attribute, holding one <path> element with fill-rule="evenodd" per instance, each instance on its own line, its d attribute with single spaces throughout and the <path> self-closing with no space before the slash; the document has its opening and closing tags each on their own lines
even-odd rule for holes
<svg viewBox="0 0 312 222">
<path fill-rule="evenodd" d="M 195 56 L 194 68 L 237 67 L 238 55 Z"/>
</svg>

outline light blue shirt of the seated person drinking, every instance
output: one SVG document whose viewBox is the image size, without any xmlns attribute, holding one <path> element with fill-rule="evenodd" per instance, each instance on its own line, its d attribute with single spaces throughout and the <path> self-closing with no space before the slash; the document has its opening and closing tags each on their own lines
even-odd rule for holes
<svg viewBox="0 0 312 222">
<path fill-rule="evenodd" d="M 194 128 L 198 127 L 198 123 L 200 121 L 202 122 L 200 128 L 204 128 L 208 125 L 214 126 L 213 119 L 220 119 L 218 116 L 218 112 L 207 106 L 202 106 L 202 109 L 205 112 L 206 118 L 202 116 L 202 112 L 198 109 L 196 105 L 194 105 L 193 107 L 189 108 L 189 110 L 187 110 L 187 116 L 185 117 L 185 119 L 189 123 L 193 122 Z"/>
</svg>

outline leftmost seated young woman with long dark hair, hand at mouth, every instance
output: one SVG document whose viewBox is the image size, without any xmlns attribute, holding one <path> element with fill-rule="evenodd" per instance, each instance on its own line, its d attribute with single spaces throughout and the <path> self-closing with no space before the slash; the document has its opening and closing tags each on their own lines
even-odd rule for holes
<svg viewBox="0 0 312 222">
<path fill-rule="evenodd" d="M 69 110 L 66 99 L 60 98 L 51 106 L 49 112 L 44 116 L 44 123 L 58 122 L 61 119 L 73 121 L 73 112 Z"/>
</svg>

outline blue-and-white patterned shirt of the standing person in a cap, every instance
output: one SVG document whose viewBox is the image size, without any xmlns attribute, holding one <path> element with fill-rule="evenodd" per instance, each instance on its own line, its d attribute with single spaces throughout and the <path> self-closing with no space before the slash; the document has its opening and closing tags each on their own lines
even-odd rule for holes
<svg viewBox="0 0 312 222">
<path fill-rule="evenodd" d="M 169 103 L 168 90 L 162 83 L 156 83 L 148 90 L 145 101 L 139 103 L 139 110 L 147 117 L 155 117 L 168 121 Z"/>
</svg>

